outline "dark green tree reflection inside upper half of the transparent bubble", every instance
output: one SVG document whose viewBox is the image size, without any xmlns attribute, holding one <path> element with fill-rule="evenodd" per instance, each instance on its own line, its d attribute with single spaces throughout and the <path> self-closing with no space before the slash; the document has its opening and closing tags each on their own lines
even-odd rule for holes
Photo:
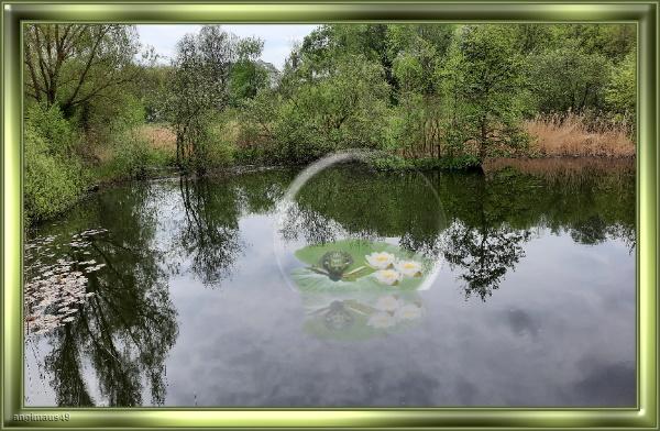
<svg viewBox="0 0 660 431">
<path fill-rule="evenodd" d="M 285 241 L 400 237 L 399 245 L 435 257 L 444 222 L 440 202 L 421 174 L 383 175 L 338 166 L 311 178 L 284 217 Z"/>
</svg>

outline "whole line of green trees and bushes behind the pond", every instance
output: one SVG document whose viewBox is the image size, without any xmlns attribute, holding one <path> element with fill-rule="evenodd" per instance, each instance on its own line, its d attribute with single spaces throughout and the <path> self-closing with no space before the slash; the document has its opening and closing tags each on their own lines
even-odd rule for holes
<svg viewBox="0 0 660 431">
<path fill-rule="evenodd" d="M 264 41 L 218 25 L 183 37 L 167 65 L 131 25 L 24 32 L 32 220 L 154 167 L 301 164 L 349 147 L 388 154 L 383 168 L 561 154 L 564 118 L 580 123 L 571 152 L 587 139 L 588 154 L 634 152 L 632 24 L 320 25 L 283 70 L 261 59 Z"/>
</svg>

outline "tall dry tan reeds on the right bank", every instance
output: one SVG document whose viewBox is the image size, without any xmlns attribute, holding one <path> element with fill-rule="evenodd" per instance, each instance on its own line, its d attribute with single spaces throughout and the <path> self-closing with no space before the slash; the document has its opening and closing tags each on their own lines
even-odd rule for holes
<svg viewBox="0 0 660 431">
<path fill-rule="evenodd" d="M 634 126 L 624 119 L 604 119 L 590 113 L 537 115 L 525 122 L 532 137 L 531 152 L 540 156 L 635 155 Z"/>
</svg>

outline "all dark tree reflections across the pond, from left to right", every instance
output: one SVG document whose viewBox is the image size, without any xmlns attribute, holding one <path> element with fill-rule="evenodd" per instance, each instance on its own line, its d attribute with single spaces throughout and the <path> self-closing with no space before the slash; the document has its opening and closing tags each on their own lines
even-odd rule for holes
<svg viewBox="0 0 660 431">
<path fill-rule="evenodd" d="M 284 195 L 292 175 L 275 174 L 182 179 L 183 223 L 165 252 L 189 258 L 205 284 L 219 283 L 241 252 L 240 217 L 272 212 Z M 441 253 L 460 272 L 466 294 L 482 299 L 519 263 L 529 231 L 537 226 L 566 231 L 583 244 L 622 239 L 635 248 L 634 175 L 592 173 L 573 183 L 506 169 L 429 176 L 451 220 L 444 230 L 435 219 L 438 203 L 428 199 L 419 178 L 338 170 L 301 190 L 282 233 L 310 243 L 333 241 L 340 230 L 365 239 L 399 237 L 416 253 Z M 90 240 L 91 255 L 70 256 L 107 265 L 87 275 L 88 290 L 96 295 L 76 320 L 47 335 L 52 351 L 45 365 L 59 406 L 100 402 L 90 391 L 90 378 L 111 406 L 147 404 L 145 390 L 152 404 L 163 404 L 165 356 L 178 327 L 164 272 L 170 259 L 156 250 L 154 237 L 163 199 L 170 198 L 165 192 L 154 200 L 151 185 L 133 185 L 98 195 L 61 224 L 42 228 L 44 235 L 108 230 Z"/>
</svg>

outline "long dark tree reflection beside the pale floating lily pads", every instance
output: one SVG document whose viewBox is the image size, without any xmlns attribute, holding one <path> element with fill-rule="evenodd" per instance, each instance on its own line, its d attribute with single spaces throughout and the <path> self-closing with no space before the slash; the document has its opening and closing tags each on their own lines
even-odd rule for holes
<svg viewBox="0 0 660 431">
<path fill-rule="evenodd" d="M 120 195 L 121 194 L 121 195 Z M 92 237 L 90 255 L 106 264 L 88 274 L 87 290 L 95 292 L 76 319 L 50 335 L 53 350 L 45 358 L 59 406 L 92 406 L 86 382 L 89 363 L 100 394 L 110 406 L 140 406 L 143 385 L 151 402 L 165 399 L 165 358 L 178 334 L 162 254 L 152 247 L 155 219 L 135 187 L 103 195 L 98 212 L 84 214 L 86 224 L 108 229 Z"/>
</svg>

